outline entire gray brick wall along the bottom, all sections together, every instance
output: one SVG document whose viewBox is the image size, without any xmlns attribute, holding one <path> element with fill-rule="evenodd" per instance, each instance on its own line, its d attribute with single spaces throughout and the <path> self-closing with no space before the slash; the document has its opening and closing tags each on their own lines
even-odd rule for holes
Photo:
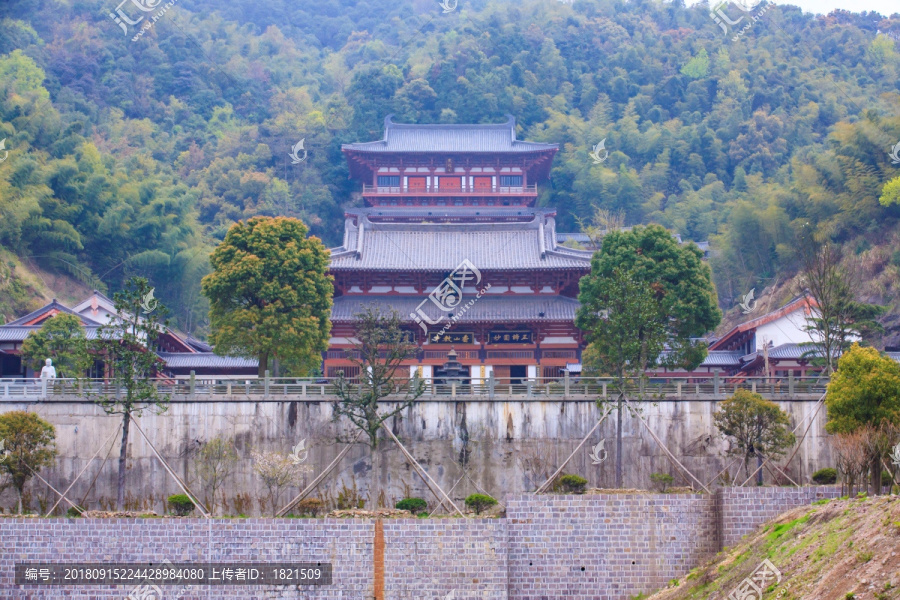
<svg viewBox="0 0 900 600">
<path fill-rule="evenodd" d="M 15 563 L 301 562 L 330 586 L 164 587 L 152 600 L 625 600 L 684 576 L 779 513 L 834 487 L 723 489 L 713 496 L 511 496 L 506 518 L 0 519 L 0 600 L 122 600 L 133 586 L 13 585 Z M 384 586 L 383 595 L 376 590 Z M 139 600 L 151 600 L 151 597 Z"/>
</svg>

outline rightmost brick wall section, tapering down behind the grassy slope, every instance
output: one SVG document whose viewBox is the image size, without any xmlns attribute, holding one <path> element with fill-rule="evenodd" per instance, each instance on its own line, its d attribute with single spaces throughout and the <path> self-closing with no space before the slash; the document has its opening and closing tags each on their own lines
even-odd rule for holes
<svg viewBox="0 0 900 600">
<path fill-rule="evenodd" d="M 840 486 L 783 488 L 722 488 L 716 492 L 722 546 L 734 546 L 742 537 L 786 510 L 837 498 Z"/>
</svg>

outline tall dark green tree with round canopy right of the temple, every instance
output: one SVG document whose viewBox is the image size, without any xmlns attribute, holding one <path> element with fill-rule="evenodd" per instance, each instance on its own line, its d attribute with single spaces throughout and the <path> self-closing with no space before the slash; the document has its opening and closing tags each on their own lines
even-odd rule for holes
<svg viewBox="0 0 900 600">
<path fill-rule="evenodd" d="M 679 246 L 658 225 L 611 231 L 580 282 L 575 324 L 587 332 L 586 372 L 612 376 L 618 391 L 616 485 L 622 485 L 622 405 L 629 380 L 657 364 L 696 368 L 718 325 L 709 267 L 699 248 Z"/>
</svg>

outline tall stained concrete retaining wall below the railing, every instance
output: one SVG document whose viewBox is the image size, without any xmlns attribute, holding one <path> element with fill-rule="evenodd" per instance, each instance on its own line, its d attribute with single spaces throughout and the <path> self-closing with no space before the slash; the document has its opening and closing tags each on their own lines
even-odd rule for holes
<svg viewBox="0 0 900 600">
<path fill-rule="evenodd" d="M 706 400 L 663 400 L 640 405 L 656 435 L 704 482 L 713 480 L 731 461 L 723 458 L 727 445 L 716 437 L 712 422 L 716 404 Z M 808 400 L 783 401 L 780 405 L 791 415 L 793 424 L 811 419 L 815 409 L 815 402 Z M 115 498 L 115 459 L 119 447 L 118 441 L 109 446 L 103 444 L 116 430 L 119 418 L 104 414 L 90 401 L 0 402 L 0 412 L 14 409 L 34 411 L 56 426 L 59 460 L 54 469 L 43 473 L 54 487 L 67 487 L 86 461 L 101 450 L 99 458 L 75 484 L 72 496 L 81 500 L 86 495 L 85 504 L 89 507 L 109 506 Z M 599 416 L 600 411 L 592 401 L 448 399 L 419 402 L 389 422 L 396 435 L 445 490 L 459 482 L 451 496 L 461 501 L 479 488 L 495 497 L 534 490 L 574 450 Z M 808 483 L 816 469 L 833 466 L 824 431 L 824 408 L 812 421 L 807 439 L 788 471 L 801 483 Z M 352 433 L 345 424 L 332 421 L 330 402 L 313 401 L 177 401 L 162 415 L 145 412 L 139 423 L 172 467 L 194 486 L 197 481 L 192 465 L 197 449 L 215 436 L 232 437 L 241 459 L 229 480 L 227 512 L 230 514 L 242 512 L 231 502 L 238 494 L 247 494 L 254 502 L 247 514 L 260 514 L 257 497 L 262 486 L 253 472 L 251 449 L 287 455 L 294 445 L 306 440 L 307 448 L 311 448 L 309 457 L 301 467 L 304 472 L 300 481 L 285 490 L 281 500 L 286 501 L 289 494 L 295 494 L 311 481 L 343 448 L 335 440 Z M 649 476 L 654 472 L 675 475 L 676 485 L 687 484 L 637 418 L 626 416 L 623 426 L 626 487 L 648 488 Z M 604 439 L 608 458 L 595 465 L 590 458 L 591 447 Z M 110 446 L 113 446 L 110 458 L 103 463 Z M 180 490 L 133 428 L 128 454 L 130 506 L 163 511 L 164 499 Z M 613 414 L 566 470 L 586 477 L 590 487 L 612 487 L 614 465 Z M 735 474 L 738 466 L 739 462 L 734 462 L 729 472 Z M 95 477 L 96 483 L 88 491 Z M 768 477 L 767 474 L 767 481 Z M 39 501 L 48 507 L 55 501 L 53 493 L 43 484 L 29 485 L 33 507 L 38 508 Z M 390 440 L 381 442 L 374 456 L 367 445 L 357 444 L 344 458 L 339 471 L 327 478 L 315 495 L 333 501 L 339 493 L 354 486 L 368 498 L 367 506 L 372 506 L 379 495 L 376 490 L 383 492 L 384 501 L 391 505 L 405 496 L 433 501 Z M 202 496 L 199 489 L 198 493 Z M 8 509 L 14 502 L 9 491 L 0 496 L 0 507 Z"/>
</svg>

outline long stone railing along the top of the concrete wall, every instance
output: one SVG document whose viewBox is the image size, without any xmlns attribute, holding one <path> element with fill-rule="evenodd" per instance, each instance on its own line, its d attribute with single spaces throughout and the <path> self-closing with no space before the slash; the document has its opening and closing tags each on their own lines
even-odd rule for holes
<svg viewBox="0 0 900 600">
<path fill-rule="evenodd" d="M 160 394 L 172 401 L 334 401 L 337 378 L 177 376 L 154 379 Z M 350 379 L 351 385 L 358 384 Z M 384 402 L 399 400 L 409 381 L 396 380 L 395 393 Z M 618 387 L 611 378 L 561 376 L 554 379 L 526 377 L 470 377 L 424 379 L 420 400 L 615 400 Z M 635 401 L 724 400 L 737 390 L 755 392 L 770 400 L 815 400 L 825 393 L 828 380 L 820 377 L 729 377 L 702 373 L 692 377 L 653 377 L 628 381 L 626 397 Z M 0 405 L 9 402 L 66 402 L 123 397 L 124 387 L 105 379 L 0 380 Z"/>
</svg>

